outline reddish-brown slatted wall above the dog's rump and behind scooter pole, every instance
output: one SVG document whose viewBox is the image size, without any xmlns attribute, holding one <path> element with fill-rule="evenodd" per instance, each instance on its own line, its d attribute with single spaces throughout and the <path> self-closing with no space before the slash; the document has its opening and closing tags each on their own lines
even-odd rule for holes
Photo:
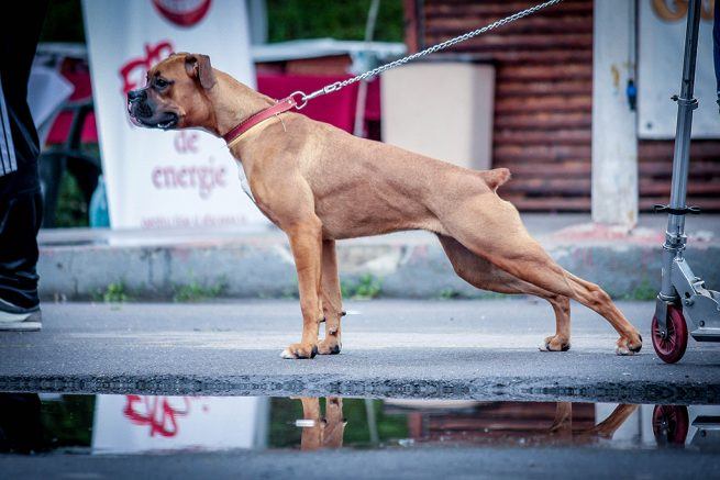
<svg viewBox="0 0 720 480">
<path fill-rule="evenodd" d="M 409 46 L 423 48 L 535 3 L 406 0 Z M 496 66 L 492 160 L 513 172 L 502 196 L 524 211 L 589 211 L 592 0 L 567 0 L 459 44 L 451 52 L 457 53 Z M 642 209 L 667 201 L 672 152 L 672 142 L 640 142 Z M 689 202 L 720 210 L 720 142 L 695 143 L 693 154 Z"/>
</svg>

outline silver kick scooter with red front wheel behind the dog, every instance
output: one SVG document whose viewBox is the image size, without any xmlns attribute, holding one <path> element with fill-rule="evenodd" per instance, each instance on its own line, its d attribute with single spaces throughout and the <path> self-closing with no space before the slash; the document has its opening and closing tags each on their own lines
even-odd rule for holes
<svg viewBox="0 0 720 480">
<path fill-rule="evenodd" d="M 667 231 L 663 244 L 663 277 L 652 323 L 653 347 L 667 364 L 683 358 L 690 335 L 698 342 L 720 342 L 720 293 L 709 290 L 701 278 L 693 274 L 685 259 L 685 215 L 700 209 L 685 204 L 689 169 L 693 111 L 698 108 L 693 98 L 698 47 L 701 0 L 690 0 L 685 32 L 683 83 L 677 102 L 677 127 L 673 157 L 673 180 L 668 205 L 655 205 L 656 212 L 667 212 Z"/>
</svg>

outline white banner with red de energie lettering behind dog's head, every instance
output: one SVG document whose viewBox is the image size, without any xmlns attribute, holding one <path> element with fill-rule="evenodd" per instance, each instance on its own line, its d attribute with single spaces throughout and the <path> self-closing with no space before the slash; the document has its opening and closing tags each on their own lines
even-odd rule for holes
<svg viewBox="0 0 720 480">
<path fill-rule="evenodd" d="M 125 96 L 171 52 L 210 56 L 255 86 L 245 2 L 84 0 L 98 133 L 113 228 L 265 224 L 222 139 L 130 123 Z"/>
</svg>

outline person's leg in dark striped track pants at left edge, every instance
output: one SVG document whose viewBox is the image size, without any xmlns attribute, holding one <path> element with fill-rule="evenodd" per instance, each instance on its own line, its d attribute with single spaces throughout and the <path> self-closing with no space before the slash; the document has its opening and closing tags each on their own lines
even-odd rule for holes
<svg viewBox="0 0 720 480">
<path fill-rule="evenodd" d="M 46 1 L 18 5 L 0 31 L 0 330 L 40 328 L 40 142 L 26 99 L 46 8 Z"/>
</svg>

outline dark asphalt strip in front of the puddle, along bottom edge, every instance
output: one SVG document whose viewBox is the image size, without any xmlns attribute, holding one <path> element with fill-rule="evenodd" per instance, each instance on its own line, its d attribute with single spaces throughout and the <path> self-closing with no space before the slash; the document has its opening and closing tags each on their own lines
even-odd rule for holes
<svg viewBox="0 0 720 480">
<path fill-rule="evenodd" d="M 145 456 L 0 456 L 5 478 L 690 479 L 720 456 L 684 449 L 418 448 Z"/>
</svg>

